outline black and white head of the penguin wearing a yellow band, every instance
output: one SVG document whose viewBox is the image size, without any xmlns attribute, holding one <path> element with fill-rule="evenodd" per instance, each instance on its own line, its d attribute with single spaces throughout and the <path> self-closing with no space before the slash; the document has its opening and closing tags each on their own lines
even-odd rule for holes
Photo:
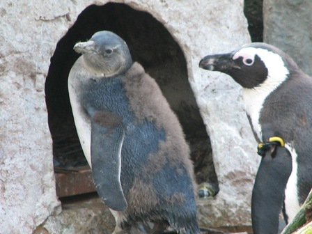
<svg viewBox="0 0 312 234">
<path fill-rule="evenodd" d="M 243 88 L 276 88 L 299 70 L 281 50 L 262 42 L 244 45 L 228 54 L 214 54 L 201 59 L 199 67 L 233 77 Z"/>
</svg>

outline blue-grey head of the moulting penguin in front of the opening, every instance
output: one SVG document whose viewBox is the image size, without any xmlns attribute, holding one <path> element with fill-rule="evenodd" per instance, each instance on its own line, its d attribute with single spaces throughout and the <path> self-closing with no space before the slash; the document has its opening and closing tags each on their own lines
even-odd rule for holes
<svg viewBox="0 0 312 234">
<path fill-rule="evenodd" d="M 110 31 L 99 31 L 87 42 L 78 42 L 74 49 L 82 54 L 87 68 L 101 77 L 123 74 L 133 63 L 125 41 Z"/>
</svg>

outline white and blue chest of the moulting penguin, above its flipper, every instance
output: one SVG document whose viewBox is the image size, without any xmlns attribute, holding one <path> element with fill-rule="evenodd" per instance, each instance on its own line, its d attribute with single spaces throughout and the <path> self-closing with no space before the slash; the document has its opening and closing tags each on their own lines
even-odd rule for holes
<svg viewBox="0 0 312 234">
<path fill-rule="evenodd" d="M 85 78 L 91 77 L 77 75 L 70 72 L 68 79 L 68 92 L 74 116 L 75 125 L 81 148 L 91 166 L 91 117 L 87 108 L 95 111 L 110 111 L 122 118 L 126 132 L 129 132 L 132 116 L 127 107 L 127 97 L 123 90 L 120 78 Z"/>
</svg>

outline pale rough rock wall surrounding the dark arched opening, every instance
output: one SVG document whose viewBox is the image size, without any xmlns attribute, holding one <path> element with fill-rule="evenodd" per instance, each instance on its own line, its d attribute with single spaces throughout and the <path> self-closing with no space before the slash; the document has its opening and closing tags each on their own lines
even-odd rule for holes
<svg viewBox="0 0 312 234">
<path fill-rule="evenodd" d="M 45 77 L 56 45 L 79 14 L 91 4 L 107 2 L 0 3 L 1 233 L 32 233 L 59 207 L 45 107 Z M 117 2 L 153 15 L 185 56 L 189 84 L 210 136 L 220 187 L 214 199 L 198 202 L 200 225 L 250 225 L 251 189 L 258 156 L 240 88 L 231 77 L 198 68 L 206 54 L 228 52 L 249 42 L 243 1 Z M 94 33 L 92 22 L 85 27 Z M 146 30 L 153 29 L 147 25 Z M 172 57 L 174 60 L 175 54 Z M 55 92 L 59 90 L 56 88 Z M 57 224 L 67 214 L 61 215 L 50 217 L 46 225 L 61 230 Z"/>
</svg>

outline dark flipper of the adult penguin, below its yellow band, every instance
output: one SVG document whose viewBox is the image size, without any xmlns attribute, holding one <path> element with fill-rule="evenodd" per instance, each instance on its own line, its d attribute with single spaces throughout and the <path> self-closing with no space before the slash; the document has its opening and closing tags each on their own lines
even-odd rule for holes
<svg viewBox="0 0 312 234">
<path fill-rule="evenodd" d="M 253 233 L 278 233 L 279 213 L 288 178 L 292 171 L 291 155 L 286 148 L 276 148 L 261 159 L 251 198 Z"/>
</svg>

